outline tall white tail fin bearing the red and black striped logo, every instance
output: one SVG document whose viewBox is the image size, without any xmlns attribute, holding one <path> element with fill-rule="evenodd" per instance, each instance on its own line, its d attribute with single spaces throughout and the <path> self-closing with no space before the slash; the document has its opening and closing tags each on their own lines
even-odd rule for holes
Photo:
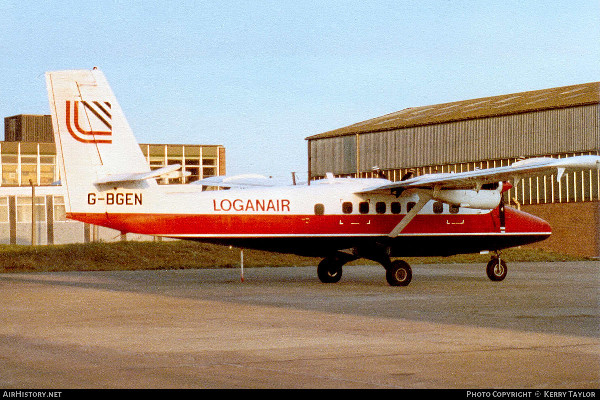
<svg viewBox="0 0 600 400">
<path fill-rule="evenodd" d="M 89 204 L 88 193 L 118 181 L 111 177 L 152 175 L 150 166 L 100 70 L 47 72 L 46 85 L 68 212 L 106 212 Z M 157 183 L 149 177 L 127 184 Z"/>
</svg>

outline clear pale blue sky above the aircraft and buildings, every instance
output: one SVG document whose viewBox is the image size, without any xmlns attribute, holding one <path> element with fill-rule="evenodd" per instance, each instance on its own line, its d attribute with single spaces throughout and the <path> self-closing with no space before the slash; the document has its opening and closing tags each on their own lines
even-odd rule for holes
<svg viewBox="0 0 600 400">
<path fill-rule="evenodd" d="M 306 137 L 407 107 L 600 81 L 598 0 L 0 0 L 0 16 L 0 117 L 50 113 L 43 72 L 98 66 L 140 142 L 223 144 L 233 174 L 305 177 Z"/>
</svg>

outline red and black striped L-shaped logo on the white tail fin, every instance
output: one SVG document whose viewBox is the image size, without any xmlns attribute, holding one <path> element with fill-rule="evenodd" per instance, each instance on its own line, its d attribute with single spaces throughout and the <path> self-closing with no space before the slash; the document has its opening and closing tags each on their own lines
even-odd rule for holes
<svg viewBox="0 0 600 400">
<path fill-rule="evenodd" d="M 80 105 L 83 105 L 83 117 L 89 125 L 89 131 L 80 125 Z M 66 119 L 69 133 L 75 140 L 82 143 L 112 143 L 112 114 L 109 102 L 67 101 Z"/>
</svg>

